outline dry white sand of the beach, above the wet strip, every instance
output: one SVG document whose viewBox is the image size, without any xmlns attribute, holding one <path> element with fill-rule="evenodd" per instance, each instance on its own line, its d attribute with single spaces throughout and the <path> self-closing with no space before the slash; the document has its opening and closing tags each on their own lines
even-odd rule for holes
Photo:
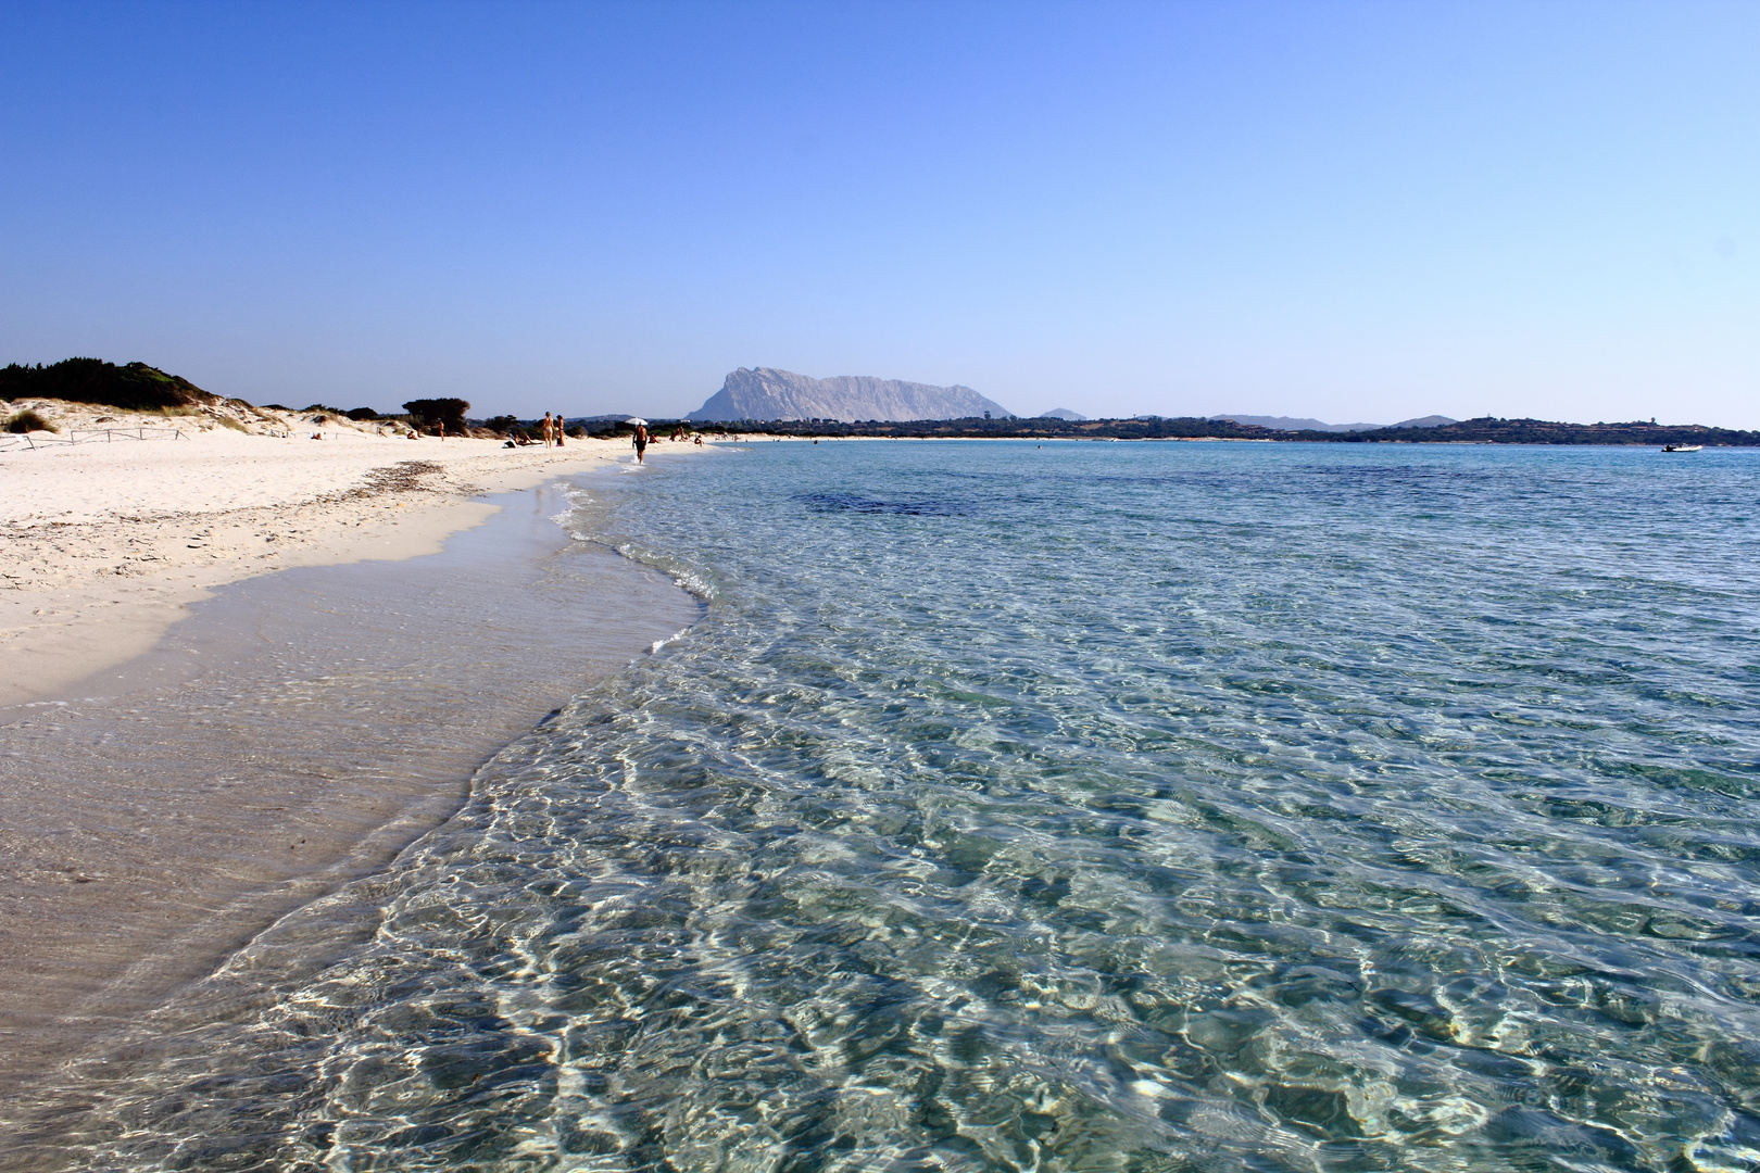
<svg viewBox="0 0 1760 1173">
<path fill-rule="evenodd" d="M 495 512 L 470 501 L 475 494 L 634 457 L 627 441 L 408 440 L 375 424 L 320 427 L 303 412 L 232 404 L 172 419 L 0 404 L 26 406 L 60 436 L 180 427 L 183 438 L 60 445 L 37 433 L 44 447 L 0 448 L 0 707 L 151 649 L 209 587 L 282 566 L 428 554 Z M 312 440 L 315 431 L 324 438 Z M 648 459 L 685 450 L 662 441 Z"/>
</svg>

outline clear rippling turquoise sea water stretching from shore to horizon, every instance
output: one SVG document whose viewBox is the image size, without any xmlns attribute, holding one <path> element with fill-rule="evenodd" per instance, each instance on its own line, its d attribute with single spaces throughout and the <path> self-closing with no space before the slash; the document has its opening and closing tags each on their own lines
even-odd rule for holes
<svg viewBox="0 0 1760 1173">
<path fill-rule="evenodd" d="M 1760 454 L 739 445 L 708 617 L 69 1076 L 125 1168 L 1760 1168 Z"/>
</svg>

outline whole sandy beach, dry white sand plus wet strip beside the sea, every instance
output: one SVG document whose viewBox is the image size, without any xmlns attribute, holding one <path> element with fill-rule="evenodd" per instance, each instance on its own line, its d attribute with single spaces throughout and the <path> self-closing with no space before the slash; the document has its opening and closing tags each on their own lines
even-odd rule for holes
<svg viewBox="0 0 1760 1173">
<path fill-rule="evenodd" d="M 192 431 L 0 454 L 0 1089 L 382 867 L 697 614 L 551 521 L 623 443 Z"/>
</svg>

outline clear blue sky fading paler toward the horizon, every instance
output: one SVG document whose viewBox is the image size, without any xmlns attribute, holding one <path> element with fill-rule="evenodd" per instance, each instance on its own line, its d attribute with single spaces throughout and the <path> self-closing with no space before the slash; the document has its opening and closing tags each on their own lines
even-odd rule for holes
<svg viewBox="0 0 1760 1173">
<path fill-rule="evenodd" d="M 1760 427 L 1760 4 L 55 2 L 0 46 L 0 362 Z"/>
</svg>

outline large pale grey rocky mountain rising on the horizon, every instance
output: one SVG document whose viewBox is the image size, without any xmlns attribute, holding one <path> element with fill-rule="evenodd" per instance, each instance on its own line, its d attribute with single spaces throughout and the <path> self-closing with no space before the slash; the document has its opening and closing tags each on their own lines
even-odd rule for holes
<svg viewBox="0 0 1760 1173">
<path fill-rule="evenodd" d="M 709 401 L 692 412 L 697 422 L 737 420 L 956 420 L 1010 412 L 970 387 L 931 387 L 896 378 L 840 375 L 810 378 L 760 366 L 739 368 Z"/>
</svg>

